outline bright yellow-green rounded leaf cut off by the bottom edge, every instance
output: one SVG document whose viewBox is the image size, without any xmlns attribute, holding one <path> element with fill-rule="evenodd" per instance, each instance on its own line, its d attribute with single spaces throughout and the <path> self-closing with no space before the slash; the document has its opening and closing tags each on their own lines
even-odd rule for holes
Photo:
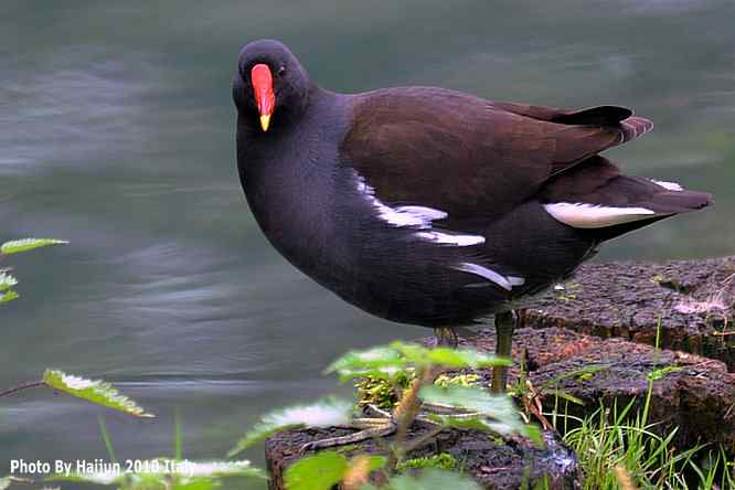
<svg viewBox="0 0 735 490">
<path fill-rule="evenodd" d="M 342 480 L 348 469 L 347 458 L 334 451 L 323 451 L 299 459 L 286 470 L 288 490 L 330 490 Z"/>
</svg>

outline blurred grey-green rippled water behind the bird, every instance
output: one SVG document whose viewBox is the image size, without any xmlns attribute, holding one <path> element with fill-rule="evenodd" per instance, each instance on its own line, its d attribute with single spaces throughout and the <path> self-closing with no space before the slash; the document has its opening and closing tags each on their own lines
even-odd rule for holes
<svg viewBox="0 0 735 490">
<path fill-rule="evenodd" d="M 339 90 L 631 106 L 656 131 L 608 155 L 717 205 L 601 259 L 733 253 L 733 3 L 550 4 L 3 0 L 0 239 L 72 244 L 11 260 L 22 298 L 0 310 L 0 386 L 55 366 L 115 381 L 159 418 L 45 391 L 3 398 L 0 475 L 11 458 L 105 457 L 98 413 L 120 458 L 170 455 L 177 411 L 184 456 L 219 457 L 259 413 L 335 390 L 320 371 L 345 349 L 426 333 L 343 305 L 260 236 L 230 100 L 237 51 L 256 38 L 283 39 Z"/>
</svg>

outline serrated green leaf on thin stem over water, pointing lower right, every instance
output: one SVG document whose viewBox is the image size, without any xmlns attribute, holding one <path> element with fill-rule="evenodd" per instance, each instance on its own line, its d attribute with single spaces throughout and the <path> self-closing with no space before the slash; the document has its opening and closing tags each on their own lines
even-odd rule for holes
<svg viewBox="0 0 735 490">
<path fill-rule="evenodd" d="M 57 370 L 46 370 L 43 373 L 43 382 L 49 387 L 97 405 L 125 412 L 137 417 L 155 417 L 155 415 L 146 413 L 132 400 L 120 395 L 111 384 L 102 380 L 92 381 Z"/>
</svg>

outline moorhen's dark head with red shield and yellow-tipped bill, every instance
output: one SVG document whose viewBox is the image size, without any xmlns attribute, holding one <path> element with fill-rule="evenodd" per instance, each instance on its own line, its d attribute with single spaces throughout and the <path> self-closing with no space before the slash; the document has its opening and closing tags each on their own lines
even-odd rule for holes
<svg viewBox="0 0 735 490">
<path fill-rule="evenodd" d="M 239 52 L 232 94 L 244 122 L 265 132 L 301 114 L 309 86 L 309 75 L 288 47 L 258 40 Z"/>
</svg>

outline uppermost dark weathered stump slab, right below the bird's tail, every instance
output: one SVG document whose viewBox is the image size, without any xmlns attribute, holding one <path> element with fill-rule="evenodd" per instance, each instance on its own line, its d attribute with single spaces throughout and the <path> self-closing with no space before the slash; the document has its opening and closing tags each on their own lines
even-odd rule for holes
<svg viewBox="0 0 735 490">
<path fill-rule="evenodd" d="M 656 343 L 723 361 L 735 371 L 735 256 L 664 264 L 583 265 L 536 298 L 521 324 Z"/>
</svg>

